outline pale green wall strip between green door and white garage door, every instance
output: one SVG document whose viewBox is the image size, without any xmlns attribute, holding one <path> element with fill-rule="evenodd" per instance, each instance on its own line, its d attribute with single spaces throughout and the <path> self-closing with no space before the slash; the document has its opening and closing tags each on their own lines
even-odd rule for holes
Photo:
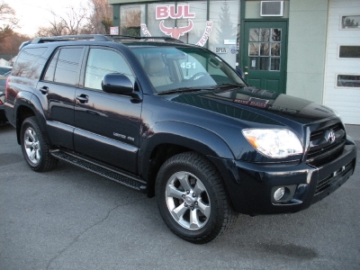
<svg viewBox="0 0 360 270">
<path fill-rule="evenodd" d="M 322 103 L 328 0 L 291 0 L 286 94 Z"/>
</svg>

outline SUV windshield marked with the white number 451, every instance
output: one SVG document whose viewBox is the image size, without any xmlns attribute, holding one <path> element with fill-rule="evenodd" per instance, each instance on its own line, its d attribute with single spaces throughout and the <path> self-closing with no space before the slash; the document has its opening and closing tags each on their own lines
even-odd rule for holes
<svg viewBox="0 0 360 270">
<path fill-rule="evenodd" d="M 246 84 L 225 62 L 197 48 L 134 48 L 157 93 Z"/>
</svg>

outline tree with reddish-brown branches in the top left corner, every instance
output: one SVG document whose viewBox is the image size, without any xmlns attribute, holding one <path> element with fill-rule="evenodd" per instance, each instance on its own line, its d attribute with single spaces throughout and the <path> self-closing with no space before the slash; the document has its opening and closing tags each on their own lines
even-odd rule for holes
<svg viewBox="0 0 360 270">
<path fill-rule="evenodd" d="M 0 25 L 0 41 L 2 41 L 5 37 L 14 34 L 14 28 L 19 22 L 15 17 L 14 9 L 4 1 L 0 3 L 0 22 L 3 23 Z"/>
</svg>

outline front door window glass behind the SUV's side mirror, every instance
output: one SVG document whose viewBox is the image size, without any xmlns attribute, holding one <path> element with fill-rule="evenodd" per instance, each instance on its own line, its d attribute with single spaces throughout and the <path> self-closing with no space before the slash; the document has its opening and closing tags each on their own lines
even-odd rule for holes
<svg viewBox="0 0 360 270">
<path fill-rule="evenodd" d="M 135 82 L 128 63 L 119 53 L 111 49 L 90 49 L 85 70 L 85 87 L 102 90 L 103 76 L 109 73 L 121 73 L 128 76 L 132 84 Z"/>
</svg>

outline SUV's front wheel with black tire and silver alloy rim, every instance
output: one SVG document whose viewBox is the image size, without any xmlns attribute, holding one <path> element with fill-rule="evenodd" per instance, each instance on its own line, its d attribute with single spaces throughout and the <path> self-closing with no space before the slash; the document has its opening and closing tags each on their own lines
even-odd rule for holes
<svg viewBox="0 0 360 270">
<path fill-rule="evenodd" d="M 157 174 L 156 193 L 158 209 L 169 229 L 195 244 L 218 237 L 238 217 L 216 168 L 194 152 L 166 160 Z"/>
</svg>

